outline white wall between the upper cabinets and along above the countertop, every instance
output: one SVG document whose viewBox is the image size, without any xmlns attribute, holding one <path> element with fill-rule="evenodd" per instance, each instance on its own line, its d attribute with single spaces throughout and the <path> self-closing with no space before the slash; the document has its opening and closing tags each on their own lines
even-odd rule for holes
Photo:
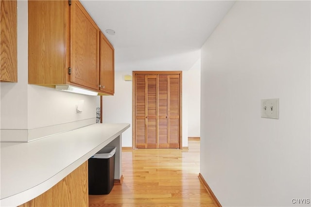
<svg viewBox="0 0 311 207">
<path fill-rule="evenodd" d="M 17 83 L 0 83 L 1 129 L 34 129 L 95 118 L 96 96 L 28 85 L 28 2 L 17 1 Z M 84 99 L 84 111 L 76 104 Z"/>
</svg>

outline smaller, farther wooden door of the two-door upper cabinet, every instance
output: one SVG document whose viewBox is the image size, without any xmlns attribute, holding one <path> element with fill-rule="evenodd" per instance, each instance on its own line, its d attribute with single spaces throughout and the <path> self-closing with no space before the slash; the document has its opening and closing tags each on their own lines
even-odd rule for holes
<svg viewBox="0 0 311 207">
<path fill-rule="evenodd" d="M 113 95 L 115 91 L 114 48 L 101 32 L 100 37 L 100 90 Z"/>
</svg>

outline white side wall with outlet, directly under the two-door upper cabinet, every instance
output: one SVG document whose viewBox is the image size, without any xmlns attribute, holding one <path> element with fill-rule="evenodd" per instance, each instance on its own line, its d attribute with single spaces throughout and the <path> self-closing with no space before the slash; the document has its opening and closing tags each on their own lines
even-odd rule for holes
<svg viewBox="0 0 311 207">
<path fill-rule="evenodd" d="M 81 113 L 76 111 L 79 100 L 84 100 Z M 37 85 L 28 86 L 28 128 L 91 119 L 96 117 L 96 107 L 97 96 L 61 92 Z"/>
</svg>

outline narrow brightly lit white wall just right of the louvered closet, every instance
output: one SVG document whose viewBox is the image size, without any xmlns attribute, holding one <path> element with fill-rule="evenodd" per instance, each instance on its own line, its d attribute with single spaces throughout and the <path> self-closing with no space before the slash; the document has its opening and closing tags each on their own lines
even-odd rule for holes
<svg viewBox="0 0 311 207">
<path fill-rule="evenodd" d="M 188 90 L 188 137 L 200 137 L 201 116 L 201 59 L 187 72 L 186 87 Z M 185 73 L 184 72 L 184 73 Z"/>
</svg>

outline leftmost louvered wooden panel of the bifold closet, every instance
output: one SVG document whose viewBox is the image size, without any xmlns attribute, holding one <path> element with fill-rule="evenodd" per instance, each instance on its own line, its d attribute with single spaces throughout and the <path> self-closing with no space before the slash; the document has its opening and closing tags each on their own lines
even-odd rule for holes
<svg viewBox="0 0 311 207">
<path fill-rule="evenodd" d="M 146 148 L 146 76 L 136 75 L 136 114 L 135 134 L 136 148 Z"/>
</svg>

